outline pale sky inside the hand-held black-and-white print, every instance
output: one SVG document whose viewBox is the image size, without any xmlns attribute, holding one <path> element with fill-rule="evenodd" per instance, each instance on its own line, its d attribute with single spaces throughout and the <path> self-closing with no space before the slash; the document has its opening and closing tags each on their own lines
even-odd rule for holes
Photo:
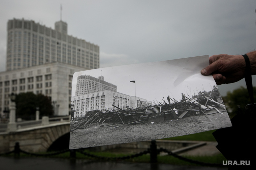
<svg viewBox="0 0 256 170">
<path fill-rule="evenodd" d="M 192 97 L 199 91 L 209 92 L 216 85 L 212 76 L 200 74 L 201 68 L 208 63 L 206 55 L 80 71 L 73 76 L 72 96 L 75 96 L 78 75 L 98 78 L 102 73 L 105 81 L 117 85 L 117 91 L 125 95 L 135 96 L 136 84 L 136 97 L 157 103 L 163 102 L 162 99 L 167 102 L 169 95 L 171 99 L 180 101 L 181 93 Z"/>
</svg>

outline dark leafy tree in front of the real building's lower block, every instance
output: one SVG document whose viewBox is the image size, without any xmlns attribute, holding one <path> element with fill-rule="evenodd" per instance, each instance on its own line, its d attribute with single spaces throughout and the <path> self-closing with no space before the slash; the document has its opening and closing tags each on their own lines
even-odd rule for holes
<svg viewBox="0 0 256 170">
<path fill-rule="evenodd" d="M 42 94 L 35 95 L 32 92 L 20 93 L 17 95 L 15 103 L 17 118 L 34 120 L 36 107 L 39 107 L 40 118 L 53 115 L 51 99 Z"/>
</svg>

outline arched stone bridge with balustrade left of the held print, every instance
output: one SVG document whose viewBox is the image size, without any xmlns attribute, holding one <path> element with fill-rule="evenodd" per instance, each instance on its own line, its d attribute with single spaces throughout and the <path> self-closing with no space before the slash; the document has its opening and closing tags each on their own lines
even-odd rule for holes
<svg viewBox="0 0 256 170">
<path fill-rule="evenodd" d="M 49 119 L 48 122 L 39 121 L 36 125 L 24 124 L 18 124 L 15 131 L 0 132 L 0 153 L 14 150 L 16 142 L 20 143 L 21 150 L 32 153 L 45 152 L 54 141 L 70 132 L 69 116 L 50 122 Z"/>
</svg>

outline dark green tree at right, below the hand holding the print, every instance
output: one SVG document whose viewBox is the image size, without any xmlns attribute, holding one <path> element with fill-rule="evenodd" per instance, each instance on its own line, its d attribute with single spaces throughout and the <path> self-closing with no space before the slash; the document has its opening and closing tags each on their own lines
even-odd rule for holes
<svg viewBox="0 0 256 170">
<path fill-rule="evenodd" d="M 254 99 L 256 99 L 256 87 L 253 87 L 253 96 Z M 228 112 L 230 118 L 236 115 L 238 105 L 243 112 L 245 112 L 245 106 L 251 104 L 248 90 L 243 86 L 233 90 L 233 92 L 227 92 L 227 96 L 222 97 L 222 99 L 225 105 L 230 109 Z"/>
</svg>

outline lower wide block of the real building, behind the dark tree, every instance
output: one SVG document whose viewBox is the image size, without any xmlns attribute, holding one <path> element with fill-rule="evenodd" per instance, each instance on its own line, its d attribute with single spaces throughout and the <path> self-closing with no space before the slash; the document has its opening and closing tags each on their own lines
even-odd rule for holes
<svg viewBox="0 0 256 170">
<path fill-rule="evenodd" d="M 54 115 L 68 115 L 71 104 L 72 77 L 84 68 L 63 63 L 0 72 L 0 112 L 8 110 L 9 94 L 33 92 L 49 96 Z"/>
</svg>

